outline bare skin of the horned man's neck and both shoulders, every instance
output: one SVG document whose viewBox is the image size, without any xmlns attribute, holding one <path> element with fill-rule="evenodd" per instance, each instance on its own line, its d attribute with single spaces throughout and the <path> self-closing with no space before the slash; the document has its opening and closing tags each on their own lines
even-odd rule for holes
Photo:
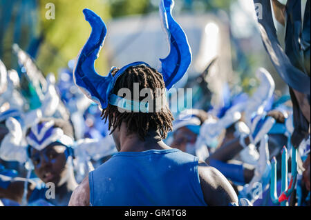
<svg viewBox="0 0 311 220">
<path fill-rule="evenodd" d="M 145 141 L 140 140 L 138 134 L 128 134 L 126 125 L 122 123 L 120 129 L 113 132 L 116 148 L 120 152 L 142 152 L 146 150 L 171 149 L 160 138 L 157 132 L 151 132 Z M 215 168 L 199 162 L 198 174 L 205 202 L 208 206 L 228 206 L 237 203 L 238 197 L 227 179 Z M 69 206 L 89 206 L 90 188 L 88 177 L 75 189 Z"/>
</svg>

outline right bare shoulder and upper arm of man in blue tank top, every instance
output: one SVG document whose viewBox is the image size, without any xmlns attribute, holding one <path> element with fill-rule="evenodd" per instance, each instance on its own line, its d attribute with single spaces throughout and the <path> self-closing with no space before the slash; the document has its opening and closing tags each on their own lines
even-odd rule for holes
<svg viewBox="0 0 311 220">
<path fill-rule="evenodd" d="M 198 174 L 205 203 L 208 206 L 228 206 L 238 201 L 229 181 L 216 168 L 199 161 Z"/>
</svg>

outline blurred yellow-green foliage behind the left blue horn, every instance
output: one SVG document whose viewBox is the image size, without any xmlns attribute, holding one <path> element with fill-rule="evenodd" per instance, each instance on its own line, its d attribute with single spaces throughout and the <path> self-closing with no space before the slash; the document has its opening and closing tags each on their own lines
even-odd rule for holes
<svg viewBox="0 0 311 220">
<path fill-rule="evenodd" d="M 54 3 L 55 19 L 46 19 L 46 3 Z M 68 60 L 75 59 L 79 50 L 84 46 L 91 33 L 91 27 L 84 20 L 82 10 L 90 8 L 102 17 L 110 17 L 109 4 L 105 1 L 92 0 L 40 0 L 39 20 L 41 21 L 44 43 L 41 45 L 37 56 L 37 63 L 44 74 L 57 72 L 58 68 L 65 67 Z M 96 63 L 99 72 L 105 68 L 104 57 Z"/>
</svg>

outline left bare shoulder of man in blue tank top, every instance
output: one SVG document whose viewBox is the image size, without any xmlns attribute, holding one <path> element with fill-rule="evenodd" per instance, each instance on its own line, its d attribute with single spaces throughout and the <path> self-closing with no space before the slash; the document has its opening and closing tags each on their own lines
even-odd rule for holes
<svg viewBox="0 0 311 220">
<path fill-rule="evenodd" d="M 88 183 L 88 176 L 86 176 L 82 183 L 71 194 L 68 206 L 89 206 L 90 205 L 90 186 Z"/>
</svg>

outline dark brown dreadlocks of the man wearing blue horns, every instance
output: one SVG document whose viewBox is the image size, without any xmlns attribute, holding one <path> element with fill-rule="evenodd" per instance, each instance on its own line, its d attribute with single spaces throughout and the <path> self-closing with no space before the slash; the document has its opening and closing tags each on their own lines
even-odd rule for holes
<svg viewBox="0 0 311 220">
<path fill-rule="evenodd" d="M 112 70 L 111 74 L 114 76 L 118 70 L 120 69 L 115 68 Z M 148 66 L 131 66 L 117 79 L 112 92 L 117 95 L 120 89 L 128 88 L 131 91 L 132 100 L 135 100 L 135 97 L 133 97 L 134 83 L 138 83 L 139 91 L 144 88 L 149 88 L 151 90 L 153 106 L 156 106 L 156 98 L 158 98 L 156 89 L 161 89 L 161 91 L 165 89 L 162 74 Z M 145 97 L 139 97 L 140 100 L 136 101 L 142 101 L 144 98 Z M 173 115 L 167 105 L 159 111 L 143 113 L 120 112 L 117 106 L 108 104 L 107 108 L 102 110 L 101 117 L 105 119 L 105 121 L 107 121 L 107 119 L 109 120 L 109 130 L 112 128 L 111 133 L 113 133 L 116 128 L 120 129 L 122 122 L 124 122 L 126 123 L 128 134 L 136 133 L 142 141 L 144 141 L 144 137 L 147 137 L 148 132 L 151 130 L 160 132 L 162 139 L 165 139 L 167 133 L 173 129 Z"/>
</svg>

